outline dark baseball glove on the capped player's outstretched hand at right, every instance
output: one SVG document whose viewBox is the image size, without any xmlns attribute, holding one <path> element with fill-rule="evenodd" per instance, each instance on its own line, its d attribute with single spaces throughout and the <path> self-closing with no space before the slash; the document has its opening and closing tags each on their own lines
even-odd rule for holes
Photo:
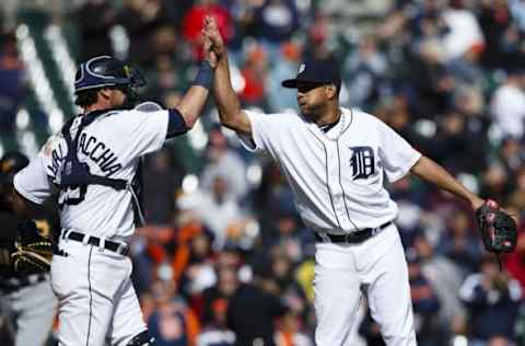
<svg viewBox="0 0 525 346">
<path fill-rule="evenodd" d="M 513 218 L 499 209 L 493 200 L 487 200 L 476 210 L 485 250 L 495 254 L 513 252 L 517 242 L 517 226 Z"/>
</svg>

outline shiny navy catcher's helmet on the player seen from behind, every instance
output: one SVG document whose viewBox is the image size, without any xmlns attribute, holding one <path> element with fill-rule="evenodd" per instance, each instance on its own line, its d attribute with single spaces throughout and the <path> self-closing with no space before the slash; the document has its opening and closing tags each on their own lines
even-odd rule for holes
<svg viewBox="0 0 525 346">
<path fill-rule="evenodd" d="M 145 85 L 145 79 L 137 69 L 110 56 L 98 56 L 82 62 L 74 76 L 74 93 L 113 85 L 133 89 Z"/>
</svg>

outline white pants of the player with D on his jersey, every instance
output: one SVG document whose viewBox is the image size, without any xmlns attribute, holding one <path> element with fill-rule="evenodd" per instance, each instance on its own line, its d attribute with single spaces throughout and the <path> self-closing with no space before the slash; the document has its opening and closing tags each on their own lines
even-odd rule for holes
<svg viewBox="0 0 525 346">
<path fill-rule="evenodd" d="M 408 267 L 394 224 L 361 244 L 318 242 L 315 262 L 317 345 L 354 345 L 362 295 L 387 346 L 417 345 Z"/>
</svg>

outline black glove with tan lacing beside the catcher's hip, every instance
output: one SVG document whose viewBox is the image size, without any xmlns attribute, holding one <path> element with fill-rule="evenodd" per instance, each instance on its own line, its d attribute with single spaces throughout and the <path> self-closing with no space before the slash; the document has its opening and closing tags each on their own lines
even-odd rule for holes
<svg viewBox="0 0 525 346">
<path fill-rule="evenodd" d="M 19 226 L 14 245 L 16 251 L 11 254 L 11 258 L 16 272 L 27 274 L 50 270 L 52 243 L 39 234 L 33 220 Z"/>
</svg>

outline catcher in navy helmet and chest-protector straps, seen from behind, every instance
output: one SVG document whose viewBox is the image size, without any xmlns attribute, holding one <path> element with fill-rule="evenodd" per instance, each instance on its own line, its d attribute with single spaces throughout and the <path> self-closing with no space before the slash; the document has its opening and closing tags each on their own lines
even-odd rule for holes
<svg viewBox="0 0 525 346">
<path fill-rule="evenodd" d="M 82 114 L 50 137 L 30 165 L 14 176 L 18 214 L 59 189 L 61 234 L 51 262 L 59 300 L 60 346 L 154 345 L 131 285 L 128 241 L 135 231 L 140 158 L 188 131 L 212 83 L 214 62 L 205 60 L 175 108 L 133 108 L 145 80 L 131 66 L 94 57 L 75 74 Z M 153 112 L 150 112 L 153 111 Z"/>
</svg>

